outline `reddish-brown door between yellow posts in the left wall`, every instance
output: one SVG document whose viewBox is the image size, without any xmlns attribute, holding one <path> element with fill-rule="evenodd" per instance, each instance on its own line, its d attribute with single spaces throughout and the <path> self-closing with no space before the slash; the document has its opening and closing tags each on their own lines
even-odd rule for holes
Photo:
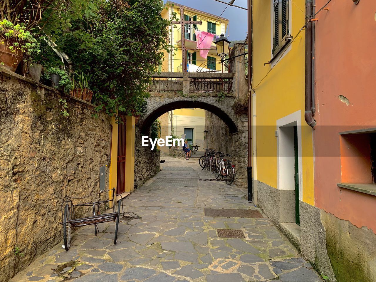
<svg viewBox="0 0 376 282">
<path fill-rule="evenodd" d="M 118 161 L 117 161 L 117 194 L 125 191 L 125 144 L 126 120 L 121 116 L 123 123 L 118 124 Z"/>
</svg>

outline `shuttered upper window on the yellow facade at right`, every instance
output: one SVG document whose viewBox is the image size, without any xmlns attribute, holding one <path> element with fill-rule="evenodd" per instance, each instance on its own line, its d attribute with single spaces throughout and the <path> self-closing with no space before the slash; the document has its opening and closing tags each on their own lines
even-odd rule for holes
<svg viewBox="0 0 376 282">
<path fill-rule="evenodd" d="M 288 1 L 272 0 L 273 2 L 273 57 L 291 41 L 288 29 Z"/>
</svg>

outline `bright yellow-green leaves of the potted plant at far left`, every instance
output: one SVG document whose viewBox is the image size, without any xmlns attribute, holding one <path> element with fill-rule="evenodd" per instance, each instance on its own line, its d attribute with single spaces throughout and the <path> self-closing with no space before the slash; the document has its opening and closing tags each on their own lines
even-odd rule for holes
<svg viewBox="0 0 376 282">
<path fill-rule="evenodd" d="M 9 50 L 24 57 L 39 54 L 39 43 L 34 36 L 20 24 L 13 24 L 3 19 L 0 21 L 0 44 L 7 45 Z"/>
</svg>

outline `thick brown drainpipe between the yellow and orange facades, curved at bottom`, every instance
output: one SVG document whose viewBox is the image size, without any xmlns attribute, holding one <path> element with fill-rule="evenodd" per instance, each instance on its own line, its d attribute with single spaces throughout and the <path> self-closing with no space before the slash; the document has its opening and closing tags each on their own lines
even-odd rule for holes
<svg viewBox="0 0 376 282">
<path fill-rule="evenodd" d="M 305 29 L 305 112 L 306 123 L 312 128 L 316 121 L 312 117 L 312 0 L 306 0 L 306 29 Z"/>
</svg>

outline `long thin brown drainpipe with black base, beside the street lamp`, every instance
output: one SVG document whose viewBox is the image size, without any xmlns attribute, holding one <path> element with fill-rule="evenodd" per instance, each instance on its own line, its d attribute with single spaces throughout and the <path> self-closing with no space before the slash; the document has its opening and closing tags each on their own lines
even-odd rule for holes
<svg viewBox="0 0 376 282">
<path fill-rule="evenodd" d="M 248 166 L 247 166 L 247 190 L 248 201 L 252 202 L 252 6 L 251 0 L 248 0 Z"/>
</svg>

